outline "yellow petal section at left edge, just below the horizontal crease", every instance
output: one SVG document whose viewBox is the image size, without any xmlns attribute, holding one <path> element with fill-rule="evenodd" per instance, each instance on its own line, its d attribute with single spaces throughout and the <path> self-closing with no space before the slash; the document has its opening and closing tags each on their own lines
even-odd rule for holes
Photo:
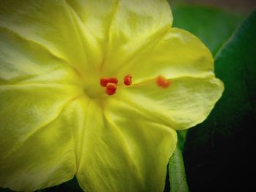
<svg viewBox="0 0 256 192">
<path fill-rule="evenodd" d="M 56 118 L 64 104 L 80 94 L 80 89 L 70 85 L 1 85 L 1 158 Z"/>
</svg>

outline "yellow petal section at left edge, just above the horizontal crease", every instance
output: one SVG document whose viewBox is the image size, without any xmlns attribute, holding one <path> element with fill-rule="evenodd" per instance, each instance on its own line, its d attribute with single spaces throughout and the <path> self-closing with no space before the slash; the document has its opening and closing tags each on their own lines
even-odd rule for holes
<svg viewBox="0 0 256 192">
<path fill-rule="evenodd" d="M 20 82 L 79 84 L 74 68 L 37 43 L 0 27 L 0 85 Z"/>
</svg>

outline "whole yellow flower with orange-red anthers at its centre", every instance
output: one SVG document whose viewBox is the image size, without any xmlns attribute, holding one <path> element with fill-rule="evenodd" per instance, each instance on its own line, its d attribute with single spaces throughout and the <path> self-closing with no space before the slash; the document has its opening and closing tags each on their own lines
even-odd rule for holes
<svg viewBox="0 0 256 192">
<path fill-rule="evenodd" d="M 172 20 L 163 0 L 1 0 L 0 186 L 163 191 L 176 130 L 223 91 Z"/>
</svg>

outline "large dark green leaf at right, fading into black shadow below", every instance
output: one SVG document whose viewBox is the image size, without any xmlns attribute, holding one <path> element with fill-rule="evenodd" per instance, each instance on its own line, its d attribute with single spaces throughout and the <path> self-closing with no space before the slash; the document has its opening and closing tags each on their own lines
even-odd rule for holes
<svg viewBox="0 0 256 192">
<path fill-rule="evenodd" d="M 255 174 L 256 11 L 216 56 L 225 92 L 208 119 L 187 134 L 184 154 L 192 191 L 245 190 Z M 255 187 L 255 186 L 253 186 Z M 246 191 L 246 190 L 245 190 Z"/>
</svg>

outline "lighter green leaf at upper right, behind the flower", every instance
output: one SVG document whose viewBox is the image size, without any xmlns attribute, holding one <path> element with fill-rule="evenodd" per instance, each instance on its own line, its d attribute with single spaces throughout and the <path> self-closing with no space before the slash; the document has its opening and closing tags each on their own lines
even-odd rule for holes
<svg viewBox="0 0 256 192">
<path fill-rule="evenodd" d="M 173 26 L 195 34 L 215 55 L 243 17 L 203 6 L 173 6 Z"/>
</svg>

